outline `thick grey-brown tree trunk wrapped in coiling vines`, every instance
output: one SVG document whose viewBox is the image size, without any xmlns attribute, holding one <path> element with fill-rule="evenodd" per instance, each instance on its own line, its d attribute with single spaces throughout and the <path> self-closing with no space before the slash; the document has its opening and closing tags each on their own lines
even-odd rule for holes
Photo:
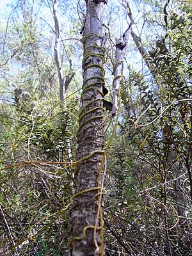
<svg viewBox="0 0 192 256">
<path fill-rule="evenodd" d="M 103 255 L 100 227 L 102 218 L 99 216 L 100 170 L 104 157 L 103 3 L 102 0 L 88 0 L 86 6 L 82 39 L 83 92 L 77 133 L 76 194 L 69 223 L 72 256 Z"/>
</svg>

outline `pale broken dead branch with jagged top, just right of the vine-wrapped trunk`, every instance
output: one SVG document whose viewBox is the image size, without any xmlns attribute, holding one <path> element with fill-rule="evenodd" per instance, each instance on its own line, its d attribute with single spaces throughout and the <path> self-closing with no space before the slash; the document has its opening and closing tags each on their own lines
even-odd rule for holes
<svg viewBox="0 0 192 256">
<path fill-rule="evenodd" d="M 128 39 L 129 34 L 131 31 L 132 23 L 129 25 L 129 28 L 124 32 L 122 38 L 116 38 L 116 53 L 115 53 L 115 65 L 113 67 L 113 108 L 112 108 L 112 115 L 116 114 L 116 109 L 118 105 L 118 90 L 120 88 L 120 82 L 122 79 L 122 71 L 123 71 L 123 63 L 124 63 L 124 56 L 125 52 L 127 51 Z"/>
</svg>

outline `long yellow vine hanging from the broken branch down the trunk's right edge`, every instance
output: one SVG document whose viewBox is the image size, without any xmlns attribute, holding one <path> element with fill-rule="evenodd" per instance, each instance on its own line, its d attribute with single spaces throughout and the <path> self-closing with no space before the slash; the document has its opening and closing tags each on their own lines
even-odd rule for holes
<svg viewBox="0 0 192 256">
<path fill-rule="evenodd" d="M 101 175 L 101 172 L 102 172 L 102 167 L 104 165 L 104 162 L 106 161 L 106 156 L 108 154 L 108 149 L 109 147 L 111 146 L 112 144 L 112 140 L 113 140 L 113 136 L 115 134 L 115 130 L 116 130 L 116 126 L 118 124 L 118 117 L 120 115 L 120 100 L 121 100 L 121 96 L 120 96 L 120 90 L 118 90 L 118 97 L 119 97 L 119 104 L 118 104 L 118 111 L 117 111 L 117 115 L 116 115 L 116 122 L 115 122 L 115 125 L 113 127 L 113 131 L 111 133 L 111 136 L 109 138 L 109 142 L 108 142 L 108 145 L 106 147 L 106 149 L 104 150 L 104 154 L 103 154 L 103 157 L 102 157 L 102 161 L 101 161 L 101 164 L 100 164 L 100 168 L 99 168 L 99 174 L 98 174 L 98 179 L 97 179 L 97 184 L 99 186 L 100 184 L 100 175 Z M 105 170 L 106 172 L 106 170 Z M 100 256 L 104 256 L 104 230 L 103 230 L 103 227 L 104 227 L 104 221 L 103 221 L 103 218 L 102 218 L 102 208 L 101 208 L 101 199 L 102 199 L 102 190 L 103 190 L 103 182 L 104 182 L 104 176 L 102 177 L 102 186 L 101 186 L 101 190 L 100 190 L 100 194 L 98 195 L 98 202 L 99 202 L 99 206 L 98 206 L 98 214 L 97 214 L 97 219 L 95 221 L 95 228 L 94 228 L 94 240 L 95 240 L 95 246 L 97 247 L 96 250 L 99 250 L 99 246 L 97 244 L 97 241 L 96 241 L 96 231 L 97 231 L 97 223 L 99 221 L 99 216 L 100 216 L 100 237 L 101 237 L 101 244 L 100 244 Z"/>
</svg>

